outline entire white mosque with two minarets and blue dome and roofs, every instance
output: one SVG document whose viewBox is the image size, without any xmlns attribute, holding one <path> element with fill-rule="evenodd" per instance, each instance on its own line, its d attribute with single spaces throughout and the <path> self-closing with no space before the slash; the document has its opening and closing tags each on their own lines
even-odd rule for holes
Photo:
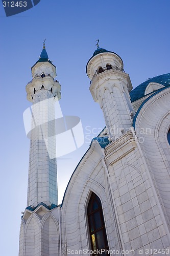
<svg viewBox="0 0 170 256">
<path fill-rule="evenodd" d="M 58 205 L 56 67 L 43 44 L 26 86 L 32 105 L 19 256 L 170 255 L 170 73 L 132 90 L 120 56 L 99 47 L 86 72 L 106 127 Z"/>
</svg>

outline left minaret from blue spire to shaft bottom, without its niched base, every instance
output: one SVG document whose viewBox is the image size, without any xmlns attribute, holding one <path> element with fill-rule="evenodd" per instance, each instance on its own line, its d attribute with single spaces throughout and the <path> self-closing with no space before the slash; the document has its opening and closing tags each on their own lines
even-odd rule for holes
<svg viewBox="0 0 170 256">
<path fill-rule="evenodd" d="M 61 98 L 56 67 L 48 59 L 45 40 L 39 60 L 31 68 L 26 86 L 32 105 L 27 206 L 58 204 L 54 103 Z"/>
</svg>

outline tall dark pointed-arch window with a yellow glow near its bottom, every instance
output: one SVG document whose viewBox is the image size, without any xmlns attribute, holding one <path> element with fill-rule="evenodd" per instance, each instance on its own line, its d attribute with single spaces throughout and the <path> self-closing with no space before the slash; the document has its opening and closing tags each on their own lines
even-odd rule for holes
<svg viewBox="0 0 170 256">
<path fill-rule="evenodd" d="M 91 194 L 88 203 L 87 216 L 93 255 L 98 255 L 97 252 L 101 249 L 105 249 L 102 255 L 110 255 L 101 200 L 94 193 Z"/>
</svg>

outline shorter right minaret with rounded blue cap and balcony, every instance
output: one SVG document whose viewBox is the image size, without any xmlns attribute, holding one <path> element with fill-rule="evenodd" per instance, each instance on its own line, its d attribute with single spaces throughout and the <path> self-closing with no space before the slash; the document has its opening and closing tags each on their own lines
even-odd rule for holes
<svg viewBox="0 0 170 256">
<path fill-rule="evenodd" d="M 99 43 L 99 40 L 98 40 Z M 132 126 L 134 115 L 129 92 L 132 90 L 129 75 L 124 72 L 123 60 L 116 53 L 99 47 L 89 59 L 86 72 L 90 81 L 90 92 L 99 102 L 113 140 Z"/>
</svg>

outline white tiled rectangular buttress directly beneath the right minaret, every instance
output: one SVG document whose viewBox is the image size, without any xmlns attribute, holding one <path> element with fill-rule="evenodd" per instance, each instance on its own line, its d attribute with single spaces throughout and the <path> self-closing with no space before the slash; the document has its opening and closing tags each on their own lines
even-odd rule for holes
<svg viewBox="0 0 170 256">
<path fill-rule="evenodd" d="M 149 170 L 136 141 L 128 140 L 127 145 L 120 140 L 106 149 L 124 249 L 133 250 L 134 255 L 138 250 L 142 255 L 159 249 L 168 252 L 170 240 Z"/>
</svg>

